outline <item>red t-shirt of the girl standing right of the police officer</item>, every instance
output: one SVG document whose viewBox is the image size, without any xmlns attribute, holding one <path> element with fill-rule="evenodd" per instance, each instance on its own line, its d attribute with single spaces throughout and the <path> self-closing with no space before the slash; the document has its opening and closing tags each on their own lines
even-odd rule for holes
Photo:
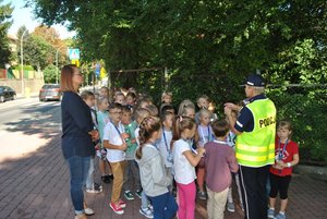
<svg viewBox="0 0 327 219">
<path fill-rule="evenodd" d="M 282 153 L 281 160 L 287 163 L 291 162 L 293 160 L 293 156 L 299 154 L 299 146 L 296 143 L 288 139 L 288 144 L 284 147 L 284 144 L 280 143 L 279 145 L 279 138 L 276 138 L 275 141 L 275 158 L 278 158 Z M 275 159 L 276 165 L 276 159 Z M 275 169 L 274 166 L 270 167 L 270 172 L 276 175 L 284 177 L 284 175 L 291 175 L 293 171 L 293 167 L 290 168 L 283 168 L 282 170 Z"/>
</svg>

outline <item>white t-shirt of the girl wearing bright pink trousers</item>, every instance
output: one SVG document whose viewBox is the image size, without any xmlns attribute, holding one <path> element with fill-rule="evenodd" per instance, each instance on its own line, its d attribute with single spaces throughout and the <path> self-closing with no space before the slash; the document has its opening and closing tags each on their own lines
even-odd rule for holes
<svg viewBox="0 0 327 219">
<path fill-rule="evenodd" d="M 181 184 L 190 184 L 196 179 L 195 168 L 183 155 L 184 151 L 191 151 L 191 145 L 184 139 L 179 139 L 173 144 L 172 156 L 174 167 L 174 180 Z"/>
</svg>

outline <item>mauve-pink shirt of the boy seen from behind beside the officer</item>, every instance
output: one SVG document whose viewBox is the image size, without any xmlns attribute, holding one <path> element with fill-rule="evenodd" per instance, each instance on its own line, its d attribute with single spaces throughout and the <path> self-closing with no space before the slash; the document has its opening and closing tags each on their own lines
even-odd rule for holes
<svg viewBox="0 0 327 219">
<path fill-rule="evenodd" d="M 234 150 L 222 141 L 205 144 L 206 184 L 214 192 L 222 192 L 230 186 L 231 172 L 238 172 Z"/>
</svg>

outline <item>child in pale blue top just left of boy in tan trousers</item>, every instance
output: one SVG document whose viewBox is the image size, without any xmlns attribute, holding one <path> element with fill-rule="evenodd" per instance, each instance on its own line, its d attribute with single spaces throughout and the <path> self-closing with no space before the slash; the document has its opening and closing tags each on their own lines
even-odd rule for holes
<svg viewBox="0 0 327 219">
<path fill-rule="evenodd" d="M 109 107 L 108 98 L 99 97 L 97 120 L 98 120 L 98 129 L 99 129 L 101 145 L 99 150 L 97 150 L 97 156 L 99 157 L 99 169 L 101 172 L 101 181 L 104 183 L 110 183 L 110 181 L 113 179 L 111 167 L 107 161 L 107 149 L 104 147 L 104 129 L 107 125 L 107 123 L 110 121 L 108 107 Z M 108 167 L 109 174 L 106 173 L 106 166 Z"/>
</svg>

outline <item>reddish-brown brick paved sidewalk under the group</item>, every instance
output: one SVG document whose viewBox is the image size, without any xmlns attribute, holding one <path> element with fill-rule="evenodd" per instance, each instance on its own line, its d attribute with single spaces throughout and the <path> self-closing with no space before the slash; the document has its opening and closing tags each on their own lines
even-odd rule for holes
<svg viewBox="0 0 327 219">
<path fill-rule="evenodd" d="M 99 182 L 99 173 L 96 172 Z M 319 219 L 327 216 L 327 183 L 305 175 L 294 175 L 290 188 L 289 219 Z M 96 215 L 90 219 L 143 218 L 140 199 L 126 202 L 125 215 L 117 216 L 108 206 L 111 184 L 104 184 L 100 194 L 87 194 L 87 203 Z M 205 203 L 197 202 L 196 218 L 203 218 Z M 60 136 L 37 151 L 0 163 L 0 219 L 73 219 L 69 194 L 69 172 L 62 158 Z M 226 212 L 226 219 L 242 218 Z"/>
</svg>

